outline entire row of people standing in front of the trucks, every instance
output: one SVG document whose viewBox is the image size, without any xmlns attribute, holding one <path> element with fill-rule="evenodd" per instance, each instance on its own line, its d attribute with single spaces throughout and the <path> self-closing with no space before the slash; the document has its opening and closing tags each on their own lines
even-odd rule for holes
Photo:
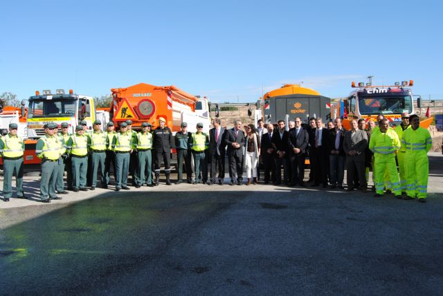
<svg viewBox="0 0 443 296">
<path fill-rule="evenodd" d="M 93 131 L 89 132 L 87 122 L 82 120 L 73 135 L 68 133 L 68 123 L 63 122 L 57 133 L 57 124 L 51 122 L 45 124 L 45 135 L 38 140 L 35 151 L 42 160 L 40 198 L 48 203 L 51 199 L 61 199 L 57 194 L 68 193 L 64 187 L 65 170 L 68 190 L 96 189 L 99 169 L 101 186 L 108 188 L 111 165 L 116 191 L 129 189 L 129 174 L 134 187 L 159 185 L 162 162 L 165 183 L 172 185 L 170 157 L 175 147 L 177 184 L 186 181 L 223 185 L 227 154 L 230 185 L 242 185 L 246 171 L 246 185 L 257 184 L 263 172 L 265 184 L 306 187 L 305 160 L 309 158 L 311 187 L 345 189 L 346 168 L 346 190 L 366 192 L 372 169 L 375 196 L 393 192 L 396 198 L 418 198 L 425 202 L 427 152 L 432 146 L 430 133 L 419 127 L 417 115 L 402 114 L 401 124 L 395 129 L 383 115 L 377 121 L 378 127 L 370 120 L 365 129 L 365 120 L 352 119 L 350 131 L 343 128 L 340 118 L 328 122 L 327 128 L 321 118 L 311 118 L 307 127 L 302 127 L 301 118 L 294 118 L 289 127 L 284 120 L 266 125 L 259 120 L 257 128 L 254 124 L 242 126 L 240 120 L 235 120 L 234 127 L 226 129 L 215 118 L 208 134 L 204 133 L 201 122 L 195 133 L 188 132 L 188 124 L 182 122 L 175 138 L 165 126 L 164 118 L 159 118 L 159 127 L 154 130 L 149 122 L 143 122 L 139 132 L 132 129 L 131 120 L 120 123 L 118 132 L 114 131 L 113 122 L 108 122 L 106 131 L 102 131 L 100 120 L 96 120 Z M 17 124 L 10 124 L 8 135 L 0 139 L 0 156 L 4 167 L 3 201 L 12 196 L 14 172 L 17 197 L 26 198 L 22 182 L 24 141 L 17 136 Z"/>
</svg>

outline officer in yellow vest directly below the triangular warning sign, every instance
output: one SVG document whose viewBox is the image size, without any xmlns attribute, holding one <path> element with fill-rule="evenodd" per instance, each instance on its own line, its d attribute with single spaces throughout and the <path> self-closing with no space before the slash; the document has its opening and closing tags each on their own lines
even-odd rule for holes
<svg viewBox="0 0 443 296">
<path fill-rule="evenodd" d="M 128 190 L 127 175 L 129 172 L 129 154 L 132 152 L 132 135 L 127 132 L 126 122 L 120 124 L 120 131 L 112 140 L 112 149 L 116 152 L 116 191 Z"/>
</svg>

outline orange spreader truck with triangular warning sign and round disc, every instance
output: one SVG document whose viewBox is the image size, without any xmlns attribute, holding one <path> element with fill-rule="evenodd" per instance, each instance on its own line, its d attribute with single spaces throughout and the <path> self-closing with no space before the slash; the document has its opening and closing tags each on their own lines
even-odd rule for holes
<svg viewBox="0 0 443 296">
<path fill-rule="evenodd" d="M 150 122 L 153 129 L 159 126 L 159 118 L 166 120 L 172 133 L 180 131 L 181 122 L 188 123 L 188 131 L 197 131 L 197 122 L 203 122 L 204 131 L 210 127 L 210 107 L 206 98 L 190 95 L 175 86 L 154 86 L 140 83 L 126 88 L 111 89 L 111 120 L 132 120 L 132 128 L 141 129 L 142 122 Z"/>
</svg>

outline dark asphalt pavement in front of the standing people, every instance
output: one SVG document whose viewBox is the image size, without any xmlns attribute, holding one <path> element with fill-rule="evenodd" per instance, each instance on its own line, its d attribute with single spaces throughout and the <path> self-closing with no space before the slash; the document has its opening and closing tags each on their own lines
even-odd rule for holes
<svg viewBox="0 0 443 296">
<path fill-rule="evenodd" d="M 188 184 L 0 201 L 0 294 L 441 295 L 443 156 L 430 167 L 424 204 Z"/>
</svg>

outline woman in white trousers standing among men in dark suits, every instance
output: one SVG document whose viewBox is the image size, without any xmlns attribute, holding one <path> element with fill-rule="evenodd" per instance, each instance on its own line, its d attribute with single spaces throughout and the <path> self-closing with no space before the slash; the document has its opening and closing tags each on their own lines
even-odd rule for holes
<svg viewBox="0 0 443 296">
<path fill-rule="evenodd" d="M 254 124 L 248 124 L 244 127 L 246 131 L 246 142 L 244 149 L 244 163 L 246 165 L 246 178 L 251 185 L 251 178 L 253 183 L 257 184 L 257 163 L 260 156 L 260 137 L 257 136 L 257 130 Z"/>
</svg>

